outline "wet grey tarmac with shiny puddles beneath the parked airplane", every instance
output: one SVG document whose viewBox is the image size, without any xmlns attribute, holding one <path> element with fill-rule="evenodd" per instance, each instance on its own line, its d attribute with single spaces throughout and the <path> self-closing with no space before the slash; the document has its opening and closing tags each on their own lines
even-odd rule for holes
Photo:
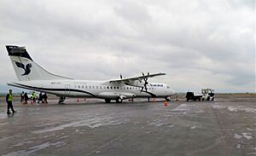
<svg viewBox="0 0 256 156">
<path fill-rule="evenodd" d="M 255 95 L 0 104 L 0 155 L 256 155 Z"/>
</svg>

